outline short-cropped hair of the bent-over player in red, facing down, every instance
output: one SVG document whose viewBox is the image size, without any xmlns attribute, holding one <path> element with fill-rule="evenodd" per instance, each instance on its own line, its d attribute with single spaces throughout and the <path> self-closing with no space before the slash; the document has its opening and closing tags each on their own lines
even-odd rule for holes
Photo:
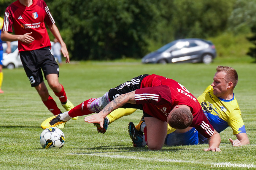
<svg viewBox="0 0 256 170">
<path fill-rule="evenodd" d="M 185 129 L 190 126 L 193 115 L 189 109 L 177 108 L 168 115 L 167 123 L 174 129 Z"/>
</svg>

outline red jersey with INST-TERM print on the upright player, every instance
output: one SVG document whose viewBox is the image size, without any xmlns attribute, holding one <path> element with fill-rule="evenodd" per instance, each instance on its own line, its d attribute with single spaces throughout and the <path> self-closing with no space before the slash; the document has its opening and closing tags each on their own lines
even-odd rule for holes
<svg viewBox="0 0 256 170">
<path fill-rule="evenodd" d="M 29 44 L 18 42 L 19 51 L 32 51 L 51 46 L 44 22 L 47 25 L 55 23 L 43 0 L 33 0 L 33 4 L 29 7 L 17 0 L 7 7 L 2 30 L 12 32 L 13 25 L 16 35 L 32 32 L 31 36 L 35 39 L 34 42 Z"/>
</svg>

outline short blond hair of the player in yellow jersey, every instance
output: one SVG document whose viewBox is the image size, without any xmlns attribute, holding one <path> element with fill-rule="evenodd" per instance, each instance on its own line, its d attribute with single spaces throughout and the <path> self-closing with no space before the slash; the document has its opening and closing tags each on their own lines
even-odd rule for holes
<svg viewBox="0 0 256 170">
<path fill-rule="evenodd" d="M 216 68 L 217 72 L 225 72 L 226 73 L 226 81 L 227 82 L 232 82 L 233 83 L 233 89 L 236 87 L 236 84 L 238 82 L 238 75 L 235 69 L 232 67 L 227 67 L 227 66 L 218 66 Z"/>
</svg>

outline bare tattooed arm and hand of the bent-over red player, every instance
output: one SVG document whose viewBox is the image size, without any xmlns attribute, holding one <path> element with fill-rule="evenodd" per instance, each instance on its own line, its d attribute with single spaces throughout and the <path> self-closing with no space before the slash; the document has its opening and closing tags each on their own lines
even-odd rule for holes
<svg viewBox="0 0 256 170">
<path fill-rule="evenodd" d="M 103 128 L 104 118 L 112 111 L 122 107 L 126 103 L 136 104 L 135 91 L 121 94 L 120 96 L 112 100 L 109 104 L 107 104 L 106 107 L 104 107 L 104 109 L 102 109 L 102 111 L 100 111 L 98 114 L 93 114 L 85 117 L 85 122 L 98 123 L 101 125 L 101 128 Z"/>
</svg>

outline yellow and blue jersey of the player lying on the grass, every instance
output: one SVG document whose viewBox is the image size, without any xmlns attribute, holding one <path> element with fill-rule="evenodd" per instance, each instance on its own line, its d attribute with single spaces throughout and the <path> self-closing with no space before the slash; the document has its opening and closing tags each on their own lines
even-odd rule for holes
<svg viewBox="0 0 256 170">
<path fill-rule="evenodd" d="M 234 94 L 232 99 L 224 100 L 213 94 L 210 85 L 197 99 L 201 103 L 203 113 L 218 133 L 229 126 L 233 130 L 233 135 L 246 133 L 241 110 Z"/>
</svg>

